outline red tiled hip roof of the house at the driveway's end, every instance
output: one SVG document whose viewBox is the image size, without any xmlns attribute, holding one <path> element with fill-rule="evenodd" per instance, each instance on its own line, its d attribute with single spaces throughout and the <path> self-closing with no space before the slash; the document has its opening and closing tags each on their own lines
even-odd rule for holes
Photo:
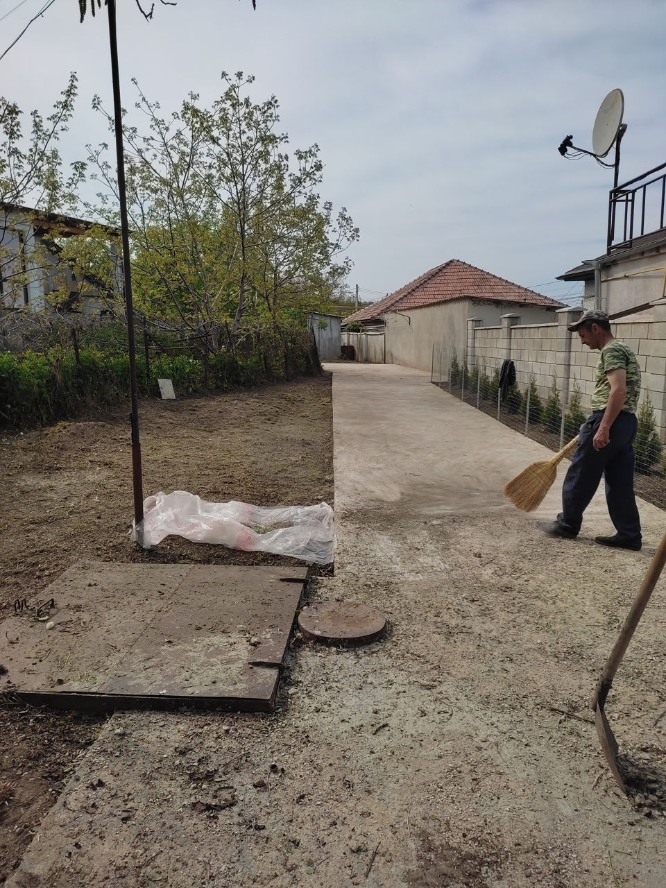
<svg viewBox="0 0 666 888">
<path fill-rule="evenodd" d="M 515 302 L 521 305 L 542 305 L 544 308 L 564 307 L 563 303 L 542 296 L 533 289 L 505 281 L 495 274 L 461 262 L 460 259 L 449 259 L 443 266 L 431 268 L 429 272 L 396 289 L 379 302 L 350 314 L 344 322 L 373 321 L 385 313 L 452 302 L 454 299 Z"/>
</svg>

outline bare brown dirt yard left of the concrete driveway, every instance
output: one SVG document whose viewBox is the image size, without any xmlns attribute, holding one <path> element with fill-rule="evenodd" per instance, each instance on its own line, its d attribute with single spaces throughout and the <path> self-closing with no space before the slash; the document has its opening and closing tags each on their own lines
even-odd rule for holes
<svg viewBox="0 0 666 888">
<path fill-rule="evenodd" d="M 329 376 L 215 397 L 144 400 L 140 439 L 145 496 L 180 489 L 211 502 L 333 503 Z M 151 551 L 129 543 L 126 408 L 5 432 L 0 449 L 0 619 L 13 614 L 16 599 L 34 606 L 78 559 L 294 563 L 173 536 Z M 0 702 L 0 884 L 102 724 L 91 716 Z"/>
</svg>

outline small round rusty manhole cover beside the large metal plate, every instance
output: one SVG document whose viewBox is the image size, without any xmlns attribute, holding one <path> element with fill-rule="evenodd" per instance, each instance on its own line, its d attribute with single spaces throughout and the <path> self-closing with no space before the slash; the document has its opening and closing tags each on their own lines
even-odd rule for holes
<svg viewBox="0 0 666 888">
<path fill-rule="evenodd" d="M 385 635 L 386 617 L 354 601 L 321 601 L 303 608 L 298 628 L 309 641 L 362 645 Z"/>
</svg>

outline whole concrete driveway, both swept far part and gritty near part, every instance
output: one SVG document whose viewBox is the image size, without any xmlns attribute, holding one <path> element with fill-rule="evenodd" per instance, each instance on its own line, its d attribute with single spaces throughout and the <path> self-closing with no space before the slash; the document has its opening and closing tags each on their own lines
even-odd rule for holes
<svg viewBox="0 0 666 888">
<path fill-rule="evenodd" d="M 550 451 L 422 372 L 330 369 L 337 562 L 313 597 L 373 604 L 390 634 L 297 648 L 273 717 L 117 714 L 9 884 L 662 888 L 662 807 L 615 788 L 586 707 L 663 512 L 639 504 L 640 553 L 593 543 L 601 495 L 552 540 L 535 519 L 561 473 L 534 515 L 501 494 Z M 663 598 L 608 705 L 656 787 Z"/>
</svg>

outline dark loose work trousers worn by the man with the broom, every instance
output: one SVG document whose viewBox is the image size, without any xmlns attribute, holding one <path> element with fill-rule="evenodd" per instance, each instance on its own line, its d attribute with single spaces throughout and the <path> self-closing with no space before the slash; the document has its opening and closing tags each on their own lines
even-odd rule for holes
<svg viewBox="0 0 666 888">
<path fill-rule="evenodd" d="M 608 512 L 615 530 L 621 536 L 640 539 L 632 447 L 638 421 L 633 413 L 619 413 L 610 427 L 610 440 L 606 447 L 595 450 L 592 439 L 603 415 L 603 410 L 595 410 L 581 426 L 578 447 L 562 487 L 562 511 L 558 515 L 558 524 L 571 535 L 580 531 L 583 511 L 590 504 L 603 475 Z"/>
</svg>

